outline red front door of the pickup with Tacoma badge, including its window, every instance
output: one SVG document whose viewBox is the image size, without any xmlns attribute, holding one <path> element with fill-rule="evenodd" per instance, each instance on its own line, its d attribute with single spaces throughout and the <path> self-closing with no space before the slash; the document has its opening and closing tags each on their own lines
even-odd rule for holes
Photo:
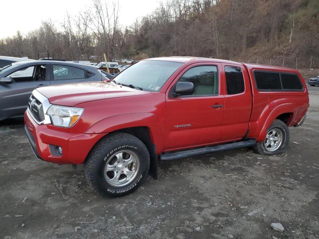
<svg viewBox="0 0 319 239">
<path fill-rule="evenodd" d="M 220 141 L 225 102 L 219 63 L 198 63 L 186 68 L 166 96 L 164 151 Z M 174 97 L 176 84 L 191 82 L 192 95 Z"/>
</svg>

